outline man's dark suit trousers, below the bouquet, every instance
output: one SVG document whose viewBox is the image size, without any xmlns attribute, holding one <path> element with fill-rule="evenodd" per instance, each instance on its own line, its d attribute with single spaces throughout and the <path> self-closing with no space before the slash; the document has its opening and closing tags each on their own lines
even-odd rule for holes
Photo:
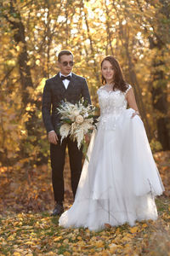
<svg viewBox="0 0 170 256">
<path fill-rule="evenodd" d="M 60 138 L 59 138 L 60 140 Z M 77 142 L 73 142 L 70 137 L 66 137 L 62 143 L 50 144 L 50 158 L 52 167 L 52 183 L 54 189 L 54 201 L 64 201 L 64 166 L 65 149 L 68 147 L 70 167 L 71 167 L 71 189 L 75 197 L 77 185 L 82 172 L 82 148 L 77 148 Z"/>
</svg>

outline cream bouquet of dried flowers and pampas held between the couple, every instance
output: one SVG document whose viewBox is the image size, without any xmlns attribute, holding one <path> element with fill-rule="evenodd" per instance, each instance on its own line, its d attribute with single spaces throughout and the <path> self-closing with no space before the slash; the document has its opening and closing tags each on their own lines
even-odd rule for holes
<svg viewBox="0 0 170 256">
<path fill-rule="evenodd" d="M 84 144 L 84 136 L 96 128 L 94 125 L 95 107 L 88 105 L 82 98 L 76 104 L 62 102 L 57 110 L 61 115 L 59 128 L 61 142 L 65 137 L 70 136 L 73 141 L 77 140 L 77 147 L 81 148 Z"/>
</svg>

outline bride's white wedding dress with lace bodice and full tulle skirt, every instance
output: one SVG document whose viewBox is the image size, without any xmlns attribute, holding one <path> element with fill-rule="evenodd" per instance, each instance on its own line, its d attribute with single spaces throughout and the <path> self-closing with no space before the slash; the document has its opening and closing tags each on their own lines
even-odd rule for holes
<svg viewBox="0 0 170 256">
<path fill-rule="evenodd" d="M 128 85 L 129 90 L 131 85 Z M 155 196 L 164 190 L 144 125 L 127 109 L 126 92 L 98 90 L 100 118 L 91 137 L 72 207 L 59 225 L 101 230 L 156 219 Z"/>
</svg>

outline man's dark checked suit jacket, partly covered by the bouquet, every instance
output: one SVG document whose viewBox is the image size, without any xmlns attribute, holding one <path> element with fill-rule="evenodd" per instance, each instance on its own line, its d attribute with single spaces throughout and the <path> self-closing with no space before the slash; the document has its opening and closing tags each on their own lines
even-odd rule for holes
<svg viewBox="0 0 170 256">
<path fill-rule="evenodd" d="M 46 80 L 42 96 L 42 119 L 47 132 L 54 130 L 59 133 L 60 116 L 56 108 L 59 107 L 61 101 L 66 100 L 75 104 L 82 97 L 91 104 L 86 79 L 77 76 L 75 73 L 72 73 L 67 89 L 65 89 L 65 84 L 59 78 L 59 73 Z"/>
</svg>

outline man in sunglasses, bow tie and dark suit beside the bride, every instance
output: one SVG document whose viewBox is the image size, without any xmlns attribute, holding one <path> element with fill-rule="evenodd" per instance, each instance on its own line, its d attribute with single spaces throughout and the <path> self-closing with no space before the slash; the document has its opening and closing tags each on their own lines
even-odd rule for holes
<svg viewBox="0 0 170 256">
<path fill-rule="evenodd" d="M 77 142 L 66 137 L 60 144 L 59 113 L 57 108 L 61 101 L 78 102 L 82 97 L 91 104 L 86 79 L 72 73 L 73 55 L 69 50 L 62 50 L 58 55 L 59 73 L 46 80 L 42 96 L 42 118 L 48 132 L 50 143 L 50 158 L 52 167 L 52 183 L 54 189 L 55 207 L 52 215 L 58 216 L 64 212 L 64 178 L 65 148 L 68 147 L 71 166 L 71 189 L 75 197 L 77 185 L 82 172 L 82 150 L 77 148 Z M 52 113 L 51 113 L 52 108 Z"/>
</svg>

